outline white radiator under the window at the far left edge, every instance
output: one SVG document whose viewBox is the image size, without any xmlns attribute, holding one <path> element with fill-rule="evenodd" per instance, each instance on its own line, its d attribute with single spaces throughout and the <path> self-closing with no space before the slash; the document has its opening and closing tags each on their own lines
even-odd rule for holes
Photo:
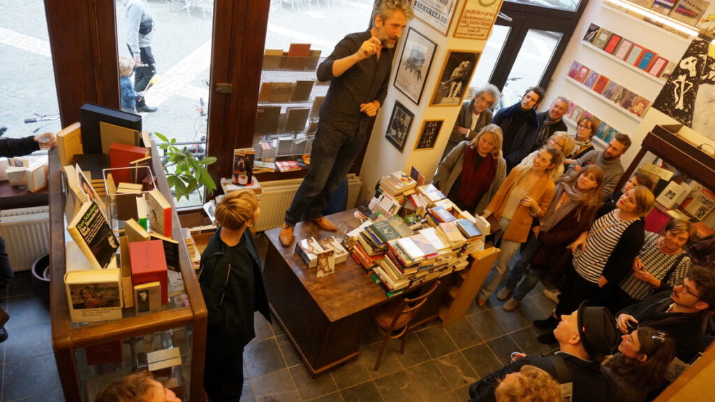
<svg viewBox="0 0 715 402">
<path fill-rule="evenodd" d="M 49 207 L 0 212 L 0 236 L 12 270 L 29 270 L 35 260 L 49 253 Z"/>
</svg>

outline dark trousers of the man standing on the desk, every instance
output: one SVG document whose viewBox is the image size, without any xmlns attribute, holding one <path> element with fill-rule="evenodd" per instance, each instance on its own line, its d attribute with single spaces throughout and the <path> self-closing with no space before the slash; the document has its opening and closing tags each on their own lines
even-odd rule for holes
<svg viewBox="0 0 715 402">
<path fill-rule="evenodd" d="M 310 169 L 298 187 L 290 208 L 285 212 L 285 222 L 295 226 L 303 217 L 322 216 L 330 195 L 350 171 L 352 162 L 363 149 L 365 133 L 355 127 L 348 134 L 330 123 L 318 123 L 310 155 Z"/>
</svg>

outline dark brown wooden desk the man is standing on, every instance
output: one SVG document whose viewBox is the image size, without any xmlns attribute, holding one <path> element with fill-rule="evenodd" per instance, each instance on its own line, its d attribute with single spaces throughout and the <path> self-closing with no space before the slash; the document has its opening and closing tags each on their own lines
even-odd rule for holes
<svg viewBox="0 0 715 402">
<path fill-rule="evenodd" d="M 353 213 L 339 212 L 328 218 L 352 229 L 360 225 Z M 370 324 L 373 308 L 388 300 L 368 273 L 348 256 L 335 265 L 335 273 L 316 278 L 307 268 L 295 244 L 283 247 L 280 228 L 265 232 L 268 239 L 264 283 L 271 310 L 313 378 L 360 354 L 360 342 Z M 320 240 L 335 235 L 312 222 L 295 225 L 295 238 Z"/>
</svg>

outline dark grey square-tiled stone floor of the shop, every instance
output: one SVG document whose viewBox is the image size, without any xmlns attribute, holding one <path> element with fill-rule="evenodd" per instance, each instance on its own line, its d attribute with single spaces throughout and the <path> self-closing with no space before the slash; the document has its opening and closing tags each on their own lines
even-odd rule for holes
<svg viewBox="0 0 715 402">
<path fill-rule="evenodd" d="M 265 250 L 265 237 L 258 237 Z M 241 401 L 466 401 L 468 386 L 501 368 L 516 350 L 546 353 L 531 320 L 553 309 L 539 285 L 513 313 L 495 295 L 484 308 L 443 328 L 435 322 L 408 338 L 405 354 L 392 340 L 379 371 L 373 365 L 378 330 L 366 330 L 360 357 L 311 381 L 280 326 L 260 314 L 245 348 Z M 18 273 L 0 305 L 11 315 L 0 344 L 0 401 L 64 401 L 51 347 L 49 310 L 33 293 L 29 272 Z M 553 345 L 555 346 L 555 345 Z"/>
</svg>

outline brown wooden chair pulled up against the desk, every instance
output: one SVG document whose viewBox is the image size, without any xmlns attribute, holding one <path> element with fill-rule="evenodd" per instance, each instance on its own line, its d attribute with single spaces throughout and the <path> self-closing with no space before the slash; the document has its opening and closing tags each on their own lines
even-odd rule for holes
<svg viewBox="0 0 715 402">
<path fill-rule="evenodd" d="M 420 308 L 422 308 L 429 296 L 434 293 L 439 285 L 440 281 L 435 280 L 432 287 L 421 295 L 415 298 L 395 300 L 395 303 L 387 303 L 375 310 L 373 321 L 375 321 L 380 332 L 384 335 L 383 344 L 380 345 L 380 353 L 378 353 L 378 360 L 375 361 L 375 371 L 378 371 L 378 368 L 380 368 L 380 360 L 383 358 L 388 340 L 402 338 L 400 353 L 405 353 L 405 340 L 410 330 L 412 330 L 410 324 Z"/>
</svg>

